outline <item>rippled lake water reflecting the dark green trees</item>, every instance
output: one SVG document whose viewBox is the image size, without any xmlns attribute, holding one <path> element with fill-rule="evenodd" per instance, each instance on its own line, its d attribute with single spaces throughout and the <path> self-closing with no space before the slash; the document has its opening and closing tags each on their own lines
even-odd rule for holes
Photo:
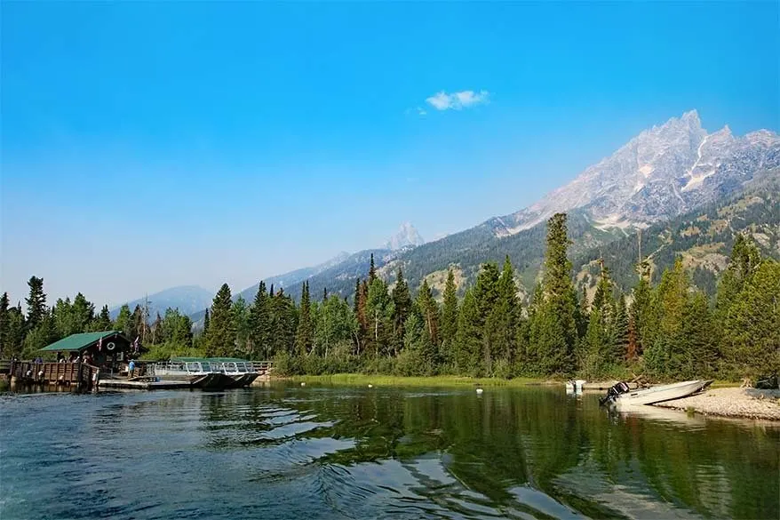
<svg viewBox="0 0 780 520">
<path fill-rule="evenodd" d="M 562 388 L 0 397 L 0 518 L 778 518 L 780 429 Z"/>
</svg>

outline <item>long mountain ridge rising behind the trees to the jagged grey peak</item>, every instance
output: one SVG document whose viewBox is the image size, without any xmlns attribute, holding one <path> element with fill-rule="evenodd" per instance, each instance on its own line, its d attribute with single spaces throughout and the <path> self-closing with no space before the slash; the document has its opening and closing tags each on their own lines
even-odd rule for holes
<svg viewBox="0 0 780 520">
<path fill-rule="evenodd" d="M 392 282 L 396 268 L 402 268 L 412 289 L 450 265 L 457 265 L 468 283 L 482 262 L 500 262 L 508 255 L 528 289 L 543 260 L 545 221 L 554 212 L 569 213 L 569 232 L 575 241 L 572 254 L 582 254 L 629 235 L 635 228 L 649 228 L 732 196 L 757 172 L 776 172 L 778 167 L 776 132 L 757 130 L 736 137 L 725 125 L 709 133 L 696 110 L 691 110 L 640 132 L 610 156 L 518 212 L 428 243 L 404 222 L 384 247 L 341 253 L 317 266 L 265 281 L 268 287 L 283 287 L 294 298 L 304 281 L 314 298 L 325 289 L 349 297 L 355 280 L 368 272 L 371 254 L 379 276 Z M 235 298 L 241 295 L 251 300 L 257 288 L 253 284 Z"/>
</svg>

